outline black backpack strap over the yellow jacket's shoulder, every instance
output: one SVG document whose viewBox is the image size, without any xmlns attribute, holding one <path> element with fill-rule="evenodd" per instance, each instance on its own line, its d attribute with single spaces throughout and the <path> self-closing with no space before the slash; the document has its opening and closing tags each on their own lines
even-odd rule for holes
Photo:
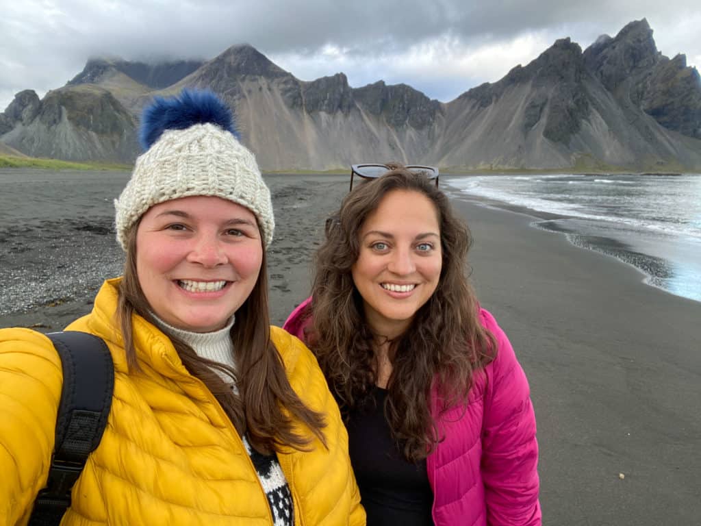
<svg viewBox="0 0 701 526">
<path fill-rule="evenodd" d="M 63 387 L 48 481 L 34 501 L 29 526 L 61 522 L 71 505 L 71 489 L 100 444 L 114 391 L 114 364 L 102 338 L 74 331 L 46 336 L 61 357 Z"/>
</svg>

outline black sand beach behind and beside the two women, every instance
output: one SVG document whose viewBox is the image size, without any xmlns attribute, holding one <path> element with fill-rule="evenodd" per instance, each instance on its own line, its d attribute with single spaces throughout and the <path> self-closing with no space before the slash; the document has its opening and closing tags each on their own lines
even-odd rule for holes
<svg viewBox="0 0 701 526">
<path fill-rule="evenodd" d="M 36 190 L 41 198 L 32 197 L 36 185 L 21 198 L 0 193 L 0 279 L 11 285 L 0 292 L 0 327 L 62 328 L 90 308 L 102 277 L 118 273 L 111 199 L 127 175 L 94 177 L 89 184 L 77 177 L 70 191 L 45 181 Z M 266 180 L 277 223 L 268 255 L 271 318 L 280 324 L 306 297 L 313 250 L 347 177 Z M 58 195 L 61 205 L 52 201 Z M 701 303 L 529 227 L 528 215 L 457 193 L 454 203 L 475 238 L 470 259 L 480 302 L 510 337 L 531 384 L 544 524 L 699 524 Z M 22 304 L 31 306 L 23 311 Z"/>
</svg>

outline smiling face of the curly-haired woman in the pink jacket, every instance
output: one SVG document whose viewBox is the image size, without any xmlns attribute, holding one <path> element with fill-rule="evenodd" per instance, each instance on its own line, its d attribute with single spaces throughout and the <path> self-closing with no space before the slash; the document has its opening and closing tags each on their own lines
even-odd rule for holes
<svg viewBox="0 0 701 526">
<path fill-rule="evenodd" d="M 442 252 L 433 202 L 418 191 L 393 190 L 360 229 L 352 274 L 373 332 L 402 334 L 435 292 Z"/>
</svg>

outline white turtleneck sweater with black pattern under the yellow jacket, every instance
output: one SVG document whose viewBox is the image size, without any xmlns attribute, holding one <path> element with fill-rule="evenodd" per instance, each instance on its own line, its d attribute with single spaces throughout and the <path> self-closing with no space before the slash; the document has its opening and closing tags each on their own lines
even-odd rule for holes
<svg viewBox="0 0 701 526">
<path fill-rule="evenodd" d="M 173 335 L 192 347 L 197 356 L 207 358 L 224 365 L 230 365 L 236 369 L 236 363 L 233 359 L 233 342 L 231 341 L 231 328 L 233 327 L 234 317 L 231 316 L 231 321 L 226 327 L 215 330 L 214 332 L 191 332 L 182 330 L 168 325 L 165 321 L 158 318 L 154 313 L 156 324 L 166 334 Z M 236 389 L 233 384 L 233 379 L 224 372 L 215 370 L 217 374 L 224 379 L 225 382 L 231 384 L 231 389 Z M 292 493 L 287 485 L 285 473 L 280 468 L 280 462 L 275 454 L 264 455 L 254 450 L 245 436 L 241 437 L 243 445 L 246 447 L 248 455 L 256 468 L 258 478 L 261 481 L 263 490 L 268 497 L 271 512 L 273 513 L 273 526 L 292 526 L 294 515 L 292 513 Z"/>
</svg>

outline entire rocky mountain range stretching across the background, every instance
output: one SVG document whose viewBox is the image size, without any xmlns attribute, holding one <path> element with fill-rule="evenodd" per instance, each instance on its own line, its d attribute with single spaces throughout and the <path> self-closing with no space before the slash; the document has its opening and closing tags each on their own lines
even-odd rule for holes
<svg viewBox="0 0 701 526">
<path fill-rule="evenodd" d="M 24 90 L 0 113 L 0 153 L 130 163 L 139 113 L 154 95 L 210 88 L 231 107 L 263 170 L 363 161 L 446 170 L 701 169 L 701 80 L 662 55 L 647 20 L 582 48 L 560 39 L 503 79 L 455 100 L 343 73 L 301 81 L 255 48 L 156 65 L 89 60 L 43 99 Z"/>
</svg>

